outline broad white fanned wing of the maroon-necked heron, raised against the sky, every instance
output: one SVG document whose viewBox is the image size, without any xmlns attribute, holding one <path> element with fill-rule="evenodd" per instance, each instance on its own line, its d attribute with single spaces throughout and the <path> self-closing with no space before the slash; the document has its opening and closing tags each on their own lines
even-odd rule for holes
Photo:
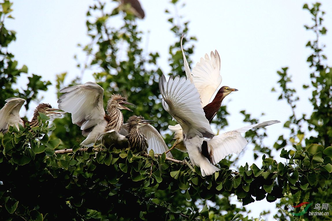
<svg viewBox="0 0 332 221">
<path fill-rule="evenodd" d="M 211 51 L 210 58 L 205 54 L 205 58 L 201 58 L 200 62 L 196 64 L 191 75 L 200 94 L 202 107 L 205 107 L 222 81 L 220 56 L 217 50 L 214 53 Z"/>
</svg>

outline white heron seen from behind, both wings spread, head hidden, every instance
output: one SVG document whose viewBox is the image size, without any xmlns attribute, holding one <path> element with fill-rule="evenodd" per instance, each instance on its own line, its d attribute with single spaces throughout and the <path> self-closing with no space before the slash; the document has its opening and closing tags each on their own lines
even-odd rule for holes
<svg viewBox="0 0 332 221">
<path fill-rule="evenodd" d="M 172 76 L 168 82 L 164 75 L 159 79 L 164 109 L 180 124 L 184 147 L 193 165 L 201 168 L 202 176 L 211 175 L 218 163 L 231 153 L 240 153 L 248 143 L 241 136 L 253 128 L 269 126 L 280 121 L 266 121 L 215 136 L 200 104 L 200 94 L 189 79 Z"/>
</svg>

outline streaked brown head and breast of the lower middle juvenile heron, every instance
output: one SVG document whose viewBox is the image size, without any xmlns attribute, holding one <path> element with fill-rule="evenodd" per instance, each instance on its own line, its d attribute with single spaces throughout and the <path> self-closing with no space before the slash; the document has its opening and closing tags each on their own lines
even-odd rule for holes
<svg viewBox="0 0 332 221">
<path fill-rule="evenodd" d="M 133 115 L 128 118 L 125 125 L 128 135 L 125 138 L 128 139 L 130 149 L 135 149 L 138 152 L 147 152 L 149 144 L 144 133 L 141 131 L 141 127 L 151 123 L 153 123 L 152 120 L 145 120 L 142 116 Z"/>
</svg>

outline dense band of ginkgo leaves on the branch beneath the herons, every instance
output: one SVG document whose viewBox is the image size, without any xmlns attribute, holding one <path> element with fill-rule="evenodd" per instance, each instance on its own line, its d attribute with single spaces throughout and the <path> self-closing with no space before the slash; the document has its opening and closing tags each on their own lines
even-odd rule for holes
<svg viewBox="0 0 332 221">
<path fill-rule="evenodd" d="M 289 160 L 287 165 L 264 155 L 262 168 L 246 164 L 232 172 L 221 164 L 219 172 L 207 177 L 189 163 L 171 162 L 165 153 L 151 151 L 141 156 L 130 149 L 74 146 L 72 153 L 60 154 L 62 150 L 54 151 L 59 140 L 47 136 L 54 129 L 48 127 L 47 119 L 42 115 L 38 127 L 11 127 L 9 133 L 1 134 L 0 162 L 5 174 L 1 177 L 0 202 L 4 206 L 0 214 L 4 220 L 20 216 L 61 219 L 64 214 L 74 220 L 149 220 L 156 216 L 219 220 L 222 216 L 217 207 L 209 210 L 205 204 L 200 209 L 190 200 L 215 200 L 219 194 L 234 193 L 244 205 L 265 197 L 272 202 L 308 188 L 327 189 L 332 172 L 332 147 L 320 145 L 295 153 L 283 149 L 281 157 Z M 183 197 L 188 200 L 186 207 Z M 51 211 L 46 199 L 52 202 Z M 130 213 L 121 208 L 130 208 Z"/>
</svg>

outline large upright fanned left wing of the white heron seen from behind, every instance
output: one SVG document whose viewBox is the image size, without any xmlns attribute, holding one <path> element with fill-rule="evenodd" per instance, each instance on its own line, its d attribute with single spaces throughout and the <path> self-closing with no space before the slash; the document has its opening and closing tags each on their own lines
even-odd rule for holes
<svg viewBox="0 0 332 221">
<path fill-rule="evenodd" d="M 167 82 L 162 75 L 159 89 L 164 109 L 180 124 L 187 136 L 214 136 L 193 83 L 179 76 L 171 76 Z"/>
</svg>

